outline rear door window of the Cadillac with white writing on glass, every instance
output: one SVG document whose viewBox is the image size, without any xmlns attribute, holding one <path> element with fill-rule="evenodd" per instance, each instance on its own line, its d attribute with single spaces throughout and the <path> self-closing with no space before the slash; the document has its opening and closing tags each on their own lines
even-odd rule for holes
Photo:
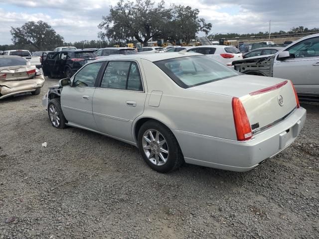
<svg viewBox="0 0 319 239">
<path fill-rule="evenodd" d="M 143 91 L 138 64 L 131 61 L 111 61 L 108 63 L 101 88 Z"/>
</svg>

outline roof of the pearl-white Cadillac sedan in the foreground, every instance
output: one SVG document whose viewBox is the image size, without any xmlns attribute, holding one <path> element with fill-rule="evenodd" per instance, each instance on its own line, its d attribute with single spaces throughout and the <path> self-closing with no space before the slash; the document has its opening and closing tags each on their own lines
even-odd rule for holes
<svg viewBox="0 0 319 239">
<path fill-rule="evenodd" d="M 199 53 L 193 53 L 193 52 L 172 52 L 169 54 L 139 53 L 139 54 L 133 54 L 133 55 L 124 55 L 124 56 L 110 55 L 110 56 L 95 60 L 94 62 L 109 61 L 109 60 L 135 60 L 135 59 L 145 59 L 151 62 L 155 62 L 155 61 L 161 61 L 161 60 L 167 60 L 167 59 L 185 57 L 185 56 L 203 56 L 203 55 Z"/>
</svg>

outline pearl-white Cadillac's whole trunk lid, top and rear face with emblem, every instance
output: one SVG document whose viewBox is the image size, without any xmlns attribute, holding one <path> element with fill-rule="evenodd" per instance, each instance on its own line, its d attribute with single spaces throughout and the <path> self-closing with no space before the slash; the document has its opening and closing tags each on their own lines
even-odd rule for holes
<svg viewBox="0 0 319 239">
<path fill-rule="evenodd" d="M 281 121 L 297 106 L 291 82 L 278 78 L 242 75 L 188 90 L 239 98 L 253 132 Z"/>
</svg>

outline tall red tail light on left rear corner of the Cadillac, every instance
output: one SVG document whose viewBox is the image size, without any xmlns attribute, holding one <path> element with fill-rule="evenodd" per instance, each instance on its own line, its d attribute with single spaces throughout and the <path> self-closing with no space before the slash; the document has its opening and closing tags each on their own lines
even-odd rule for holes
<svg viewBox="0 0 319 239">
<path fill-rule="evenodd" d="M 243 104 L 238 98 L 233 97 L 232 107 L 237 140 L 243 141 L 250 139 L 253 133 Z"/>
</svg>

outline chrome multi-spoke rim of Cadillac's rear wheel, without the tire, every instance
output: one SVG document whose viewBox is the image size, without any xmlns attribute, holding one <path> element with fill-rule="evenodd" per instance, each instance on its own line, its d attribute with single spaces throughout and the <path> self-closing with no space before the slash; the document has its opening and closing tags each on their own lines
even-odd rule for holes
<svg viewBox="0 0 319 239">
<path fill-rule="evenodd" d="M 142 146 L 147 158 L 155 165 L 162 166 L 168 159 L 168 145 L 164 136 L 156 129 L 143 134 Z"/>
</svg>

